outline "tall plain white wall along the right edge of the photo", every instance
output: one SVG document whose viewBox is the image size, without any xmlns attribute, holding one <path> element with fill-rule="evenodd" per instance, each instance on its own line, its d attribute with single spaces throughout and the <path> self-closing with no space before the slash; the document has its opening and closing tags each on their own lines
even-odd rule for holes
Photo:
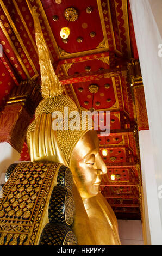
<svg viewBox="0 0 162 256">
<path fill-rule="evenodd" d="M 155 189 L 158 195 L 158 188 L 162 185 L 162 57 L 158 55 L 158 45 L 162 44 L 162 1 L 130 0 L 130 8 L 144 83 L 152 142 L 154 162 L 154 174 L 152 173 L 152 175 L 155 178 L 153 190 Z M 145 180 L 143 182 L 145 183 Z M 151 190 L 152 187 L 149 188 L 149 191 Z M 147 194 L 146 196 L 148 201 L 149 195 Z M 157 196 L 157 200 L 157 207 L 154 208 L 152 205 L 149 208 L 152 211 L 152 216 L 150 215 L 151 218 L 149 218 L 150 229 L 152 229 L 152 245 L 162 245 L 162 198 Z M 158 219 L 158 221 L 154 220 L 156 214 L 160 215 L 160 220 Z"/>
</svg>

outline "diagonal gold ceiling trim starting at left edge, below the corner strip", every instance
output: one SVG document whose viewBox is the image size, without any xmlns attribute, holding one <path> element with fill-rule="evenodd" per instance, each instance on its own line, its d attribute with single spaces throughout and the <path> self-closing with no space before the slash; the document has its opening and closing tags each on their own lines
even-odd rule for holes
<svg viewBox="0 0 162 256">
<path fill-rule="evenodd" d="M 26 69 L 26 66 L 24 65 L 22 59 L 20 58 L 20 55 L 18 54 L 18 52 L 17 52 L 17 50 L 16 50 L 16 48 L 15 48 L 13 42 L 11 41 L 10 36 L 8 35 L 7 31 L 5 30 L 5 28 L 4 28 L 3 23 L 1 22 L 1 20 L 0 20 L 0 27 L 1 27 L 1 29 L 2 29 L 2 31 L 3 31 L 3 33 L 4 33 L 4 35 L 5 35 L 5 37 L 7 38 L 7 40 L 8 40 L 8 42 L 9 42 L 11 48 L 13 49 L 13 51 L 14 51 L 14 53 L 15 53 L 17 59 L 18 59 L 18 62 L 20 62 L 21 66 L 22 66 L 22 69 L 24 70 L 24 72 L 25 72 L 25 74 L 27 75 L 27 77 L 30 79 L 31 77 L 30 77 L 30 75 L 29 75 L 29 72 L 28 72 L 28 70 Z"/>
</svg>

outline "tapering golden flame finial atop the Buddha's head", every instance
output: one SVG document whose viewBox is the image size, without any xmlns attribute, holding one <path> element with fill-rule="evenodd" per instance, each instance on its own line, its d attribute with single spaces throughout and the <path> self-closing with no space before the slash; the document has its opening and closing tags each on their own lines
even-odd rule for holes
<svg viewBox="0 0 162 256">
<path fill-rule="evenodd" d="M 57 75 L 55 75 L 49 51 L 41 30 L 38 14 L 36 13 L 36 7 L 33 7 L 33 19 L 36 45 L 39 54 L 42 97 L 44 99 L 53 98 L 63 93 L 63 87 L 61 86 Z"/>
</svg>

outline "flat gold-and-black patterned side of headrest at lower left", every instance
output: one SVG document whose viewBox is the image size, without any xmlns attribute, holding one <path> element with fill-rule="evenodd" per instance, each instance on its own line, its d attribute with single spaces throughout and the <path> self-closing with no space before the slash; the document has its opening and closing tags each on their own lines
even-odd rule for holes
<svg viewBox="0 0 162 256">
<path fill-rule="evenodd" d="M 38 244 L 48 222 L 49 199 L 60 166 L 57 163 L 18 164 L 4 185 L 0 199 L 0 245 Z"/>
</svg>

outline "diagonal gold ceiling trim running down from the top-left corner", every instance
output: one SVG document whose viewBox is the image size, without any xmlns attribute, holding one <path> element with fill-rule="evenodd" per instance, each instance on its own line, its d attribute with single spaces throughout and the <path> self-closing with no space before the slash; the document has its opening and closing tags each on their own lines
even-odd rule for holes
<svg viewBox="0 0 162 256">
<path fill-rule="evenodd" d="M 2 0 L 0 0 L 0 4 L 1 4 L 1 7 L 2 7 L 2 9 L 3 9 L 5 15 L 7 16 L 7 19 L 8 19 L 8 21 L 9 21 L 9 23 L 10 23 L 10 26 L 13 28 L 13 31 L 14 31 L 14 33 L 15 33 L 15 35 L 16 35 L 18 41 L 20 42 L 21 47 L 22 47 L 24 53 L 26 54 L 26 56 L 27 56 L 27 58 L 28 58 L 28 60 L 29 60 L 30 65 L 32 66 L 32 69 L 34 70 L 35 74 L 38 74 L 38 71 L 36 70 L 35 65 L 34 65 L 34 63 L 33 63 L 33 60 L 30 58 L 30 56 L 29 56 L 29 54 L 28 54 L 28 51 L 27 51 L 26 47 L 25 47 L 24 44 L 23 44 L 23 41 L 22 41 L 22 39 L 21 39 L 21 36 L 20 36 L 20 34 L 18 33 L 18 31 L 17 31 L 17 29 L 16 29 L 16 27 L 15 27 L 15 25 L 14 25 L 14 22 L 12 21 L 10 15 L 9 15 L 9 13 L 8 13 L 8 10 L 7 10 L 7 8 L 5 7 L 5 5 L 4 5 L 4 3 L 3 3 Z"/>
</svg>

